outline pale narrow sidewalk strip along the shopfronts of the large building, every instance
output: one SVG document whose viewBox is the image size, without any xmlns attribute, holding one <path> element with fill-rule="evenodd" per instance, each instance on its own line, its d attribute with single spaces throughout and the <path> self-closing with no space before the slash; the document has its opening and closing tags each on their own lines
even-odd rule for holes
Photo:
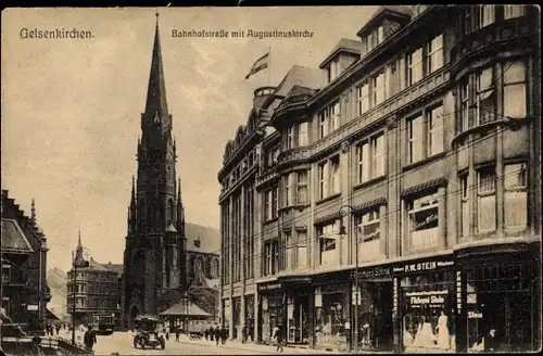
<svg viewBox="0 0 543 356">
<path fill-rule="evenodd" d="M 175 336 L 172 340 L 169 338 L 171 342 L 176 342 Z M 254 351 L 254 352 L 265 352 L 265 353 L 272 353 L 272 354 L 277 354 L 277 346 L 276 345 L 263 345 L 263 344 L 255 344 L 255 343 L 241 343 L 238 340 L 228 340 L 226 341 L 226 344 L 220 344 L 219 346 L 215 345 L 214 341 L 210 340 L 190 340 L 189 336 L 181 335 L 180 338 L 180 343 L 186 343 L 186 344 L 192 344 L 192 345 L 206 345 L 211 347 L 225 347 L 225 348 L 235 348 L 235 349 L 244 349 L 244 351 Z M 290 354 L 308 354 L 308 355 L 328 355 L 328 354 L 344 354 L 340 352 L 329 352 L 329 351 L 324 351 L 324 349 L 313 349 L 308 347 L 300 347 L 300 346 L 289 346 L 286 345 L 283 346 L 283 354 L 290 355 Z"/>
</svg>

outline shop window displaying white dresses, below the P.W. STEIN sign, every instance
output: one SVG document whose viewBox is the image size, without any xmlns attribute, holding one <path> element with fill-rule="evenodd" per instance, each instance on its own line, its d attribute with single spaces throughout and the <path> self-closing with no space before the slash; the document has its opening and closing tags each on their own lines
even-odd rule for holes
<svg viewBox="0 0 543 356">
<path fill-rule="evenodd" d="M 400 284 L 405 352 L 454 352 L 454 274 L 445 271 L 405 277 Z"/>
</svg>

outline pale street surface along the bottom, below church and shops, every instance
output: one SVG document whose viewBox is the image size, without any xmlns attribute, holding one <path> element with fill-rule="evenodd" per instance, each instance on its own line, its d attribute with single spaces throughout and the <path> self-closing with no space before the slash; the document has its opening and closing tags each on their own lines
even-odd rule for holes
<svg viewBox="0 0 543 356">
<path fill-rule="evenodd" d="M 60 335 L 64 339 L 71 339 L 71 333 L 61 331 Z M 77 338 L 78 336 L 78 338 Z M 83 333 L 76 333 L 77 340 L 83 340 Z M 214 342 L 206 340 L 191 341 L 188 336 L 181 335 L 181 341 L 176 342 L 175 335 L 171 335 L 166 341 L 165 349 L 161 348 L 134 348 L 132 335 L 130 332 L 115 332 L 112 335 L 98 335 L 94 345 L 94 355 L 260 355 L 275 354 L 275 346 L 255 345 L 252 343 L 240 344 L 236 341 L 227 341 L 226 345 L 215 345 Z M 312 349 L 287 348 L 285 354 L 317 354 Z M 319 353 L 321 354 L 321 352 Z"/>
</svg>

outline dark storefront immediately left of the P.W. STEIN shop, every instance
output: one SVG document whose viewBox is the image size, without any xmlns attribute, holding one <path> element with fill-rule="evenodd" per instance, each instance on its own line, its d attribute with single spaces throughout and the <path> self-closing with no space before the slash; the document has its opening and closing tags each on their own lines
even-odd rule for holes
<svg viewBox="0 0 543 356">
<path fill-rule="evenodd" d="M 361 268 L 357 275 L 358 296 L 353 282 L 351 327 L 353 332 L 356 327 L 358 328 L 358 349 L 392 351 L 394 334 L 392 268 L 390 266 Z M 355 319 L 356 314 L 358 319 Z"/>
</svg>

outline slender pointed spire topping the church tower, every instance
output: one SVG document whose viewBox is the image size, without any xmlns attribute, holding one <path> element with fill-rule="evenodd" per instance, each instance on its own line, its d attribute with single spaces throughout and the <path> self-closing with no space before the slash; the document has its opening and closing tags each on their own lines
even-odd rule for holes
<svg viewBox="0 0 543 356">
<path fill-rule="evenodd" d="M 159 14 L 156 13 L 156 26 L 154 31 L 153 55 L 151 59 L 151 74 L 147 91 L 146 113 L 167 117 L 166 85 L 164 82 L 164 66 L 162 65 L 161 38 L 159 31 Z"/>
</svg>

